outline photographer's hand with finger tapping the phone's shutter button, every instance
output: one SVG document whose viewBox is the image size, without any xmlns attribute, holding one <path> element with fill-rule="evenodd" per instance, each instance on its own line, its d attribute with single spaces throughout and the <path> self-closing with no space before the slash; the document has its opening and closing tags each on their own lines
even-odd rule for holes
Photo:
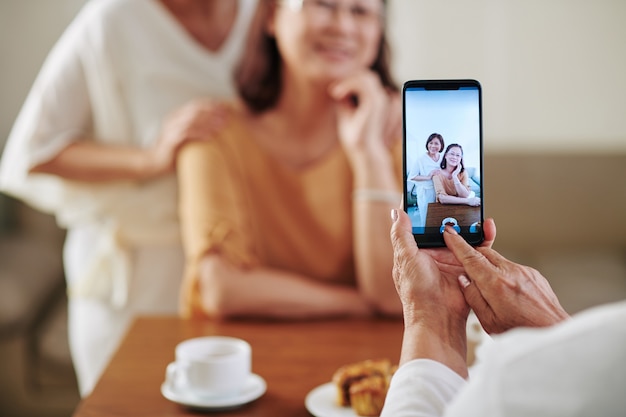
<svg viewBox="0 0 626 417">
<path fill-rule="evenodd" d="M 446 227 L 444 240 L 466 271 L 459 275 L 460 286 L 488 333 L 550 326 L 569 317 L 548 281 L 533 268 L 488 247 L 472 248 L 451 227 Z"/>
</svg>

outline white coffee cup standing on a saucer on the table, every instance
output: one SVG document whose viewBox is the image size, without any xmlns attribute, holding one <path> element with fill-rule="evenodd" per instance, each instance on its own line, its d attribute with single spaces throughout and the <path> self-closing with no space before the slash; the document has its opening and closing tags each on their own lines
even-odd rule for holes
<svg viewBox="0 0 626 417">
<path fill-rule="evenodd" d="M 167 381 L 181 392 L 202 397 L 237 395 L 250 377 L 252 349 L 242 339 L 206 336 L 176 346 L 176 361 L 168 365 Z"/>
</svg>

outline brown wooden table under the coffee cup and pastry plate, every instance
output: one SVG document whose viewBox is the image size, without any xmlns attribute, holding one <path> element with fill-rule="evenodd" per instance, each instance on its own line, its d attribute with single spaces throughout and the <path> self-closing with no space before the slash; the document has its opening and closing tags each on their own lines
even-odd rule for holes
<svg viewBox="0 0 626 417">
<path fill-rule="evenodd" d="M 204 335 L 235 336 L 252 345 L 252 370 L 267 382 L 258 400 L 211 416 L 310 417 L 304 399 L 329 382 L 341 365 L 389 358 L 397 363 L 401 320 L 309 322 L 207 322 L 175 317 L 142 317 L 75 417 L 198 416 L 161 395 L 165 367 L 182 340 Z"/>
</svg>

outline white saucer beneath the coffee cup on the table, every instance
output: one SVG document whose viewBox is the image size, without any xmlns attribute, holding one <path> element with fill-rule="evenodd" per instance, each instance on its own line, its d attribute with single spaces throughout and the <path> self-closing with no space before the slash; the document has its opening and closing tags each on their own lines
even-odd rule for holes
<svg viewBox="0 0 626 417">
<path fill-rule="evenodd" d="M 177 389 L 174 384 L 167 380 L 161 385 L 161 394 L 168 400 L 184 405 L 185 407 L 196 410 L 216 411 L 236 408 L 252 402 L 263 395 L 266 389 L 267 384 L 265 380 L 257 374 L 251 374 L 243 390 L 239 394 L 229 397 L 200 397 Z"/>
</svg>

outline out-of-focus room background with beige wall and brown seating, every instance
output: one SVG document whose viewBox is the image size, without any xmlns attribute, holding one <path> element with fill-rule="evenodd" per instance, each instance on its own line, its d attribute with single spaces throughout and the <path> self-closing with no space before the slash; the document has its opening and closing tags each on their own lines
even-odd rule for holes
<svg viewBox="0 0 626 417">
<path fill-rule="evenodd" d="M 129 0 L 136 1 L 136 0 Z M 0 0 L 0 151 L 85 0 Z M 484 207 L 496 249 L 575 313 L 626 298 L 626 2 L 388 0 L 399 84 L 483 86 Z M 69 416 L 61 247 L 48 215 L 0 194 L 0 415 Z"/>
</svg>

